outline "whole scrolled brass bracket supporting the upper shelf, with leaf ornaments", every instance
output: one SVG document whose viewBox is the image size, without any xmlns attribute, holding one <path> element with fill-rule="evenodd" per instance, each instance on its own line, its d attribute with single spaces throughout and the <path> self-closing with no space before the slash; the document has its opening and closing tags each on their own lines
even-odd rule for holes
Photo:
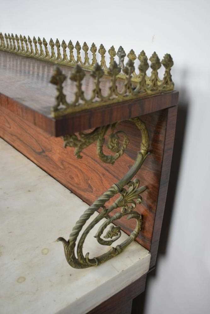
<svg viewBox="0 0 210 314">
<path fill-rule="evenodd" d="M 144 122 L 142 122 L 138 117 L 130 119 L 135 123 L 135 125 L 141 131 L 142 142 L 141 142 L 141 150 L 137 154 L 136 161 L 128 173 L 116 184 L 113 184 L 101 197 L 99 197 L 86 211 L 79 220 L 76 222 L 76 225 L 73 227 L 71 234 L 69 236 L 69 240 L 66 241 L 64 238 L 60 237 L 57 241 L 62 241 L 64 245 L 65 257 L 67 262 L 74 268 L 88 268 L 91 266 L 97 266 L 105 261 L 115 257 L 120 254 L 126 246 L 128 246 L 138 235 L 142 228 L 143 218 L 142 215 L 133 209 L 137 204 L 142 202 L 141 193 L 146 190 L 146 186 L 139 187 L 139 180 L 134 179 L 131 181 L 133 176 L 139 171 L 141 165 L 143 164 L 145 158 L 149 154 L 149 137 L 146 126 Z M 80 134 L 80 139 L 77 138 L 76 135 L 65 137 L 65 146 L 75 147 L 75 155 L 77 158 L 81 158 L 80 152 L 85 147 L 89 146 L 91 143 L 97 140 L 97 152 L 99 157 L 108 163 L 114 163 L 117 158 L 119 158 L 123 152 L 125 147 L 128 144 L 128 138 L 126 134 L 122 131 L 117 131 L 114 133 L 115 124 L 106 127 L 96 128 L 91 133 Z M 101 157 L 100 153 L 102 151 L 102 147 L 104 144 L 104 136 L 108 128 L 111 127 L 111 135 L 108 140 L 108 148 L 112 151 L 116 152 L 114 156 L 104 156 Z M 123 144 L 119 145 L 119 135 L 122 134 L 124 137 Z M 125 188 L 127 186 L 127 189 Z M 105 203 L 109 201 L 114 195 L 120 194 L 120 197 L 112 203 L 111 206 L 106 207 Z M 87 228 L 83 231 L 80 239 L 77 243 L 77 257 L 75 255 L 75 246 L 76 241 L 79 236 L 82 227 L 85 225 L 86 221 L 99 209 L 102 209 L 100 214 L 87 226 Z M 114 216 L 110 217 L 109 213 L 116 208 L 121 208 L 121 212 L 117 212 Z M 89 258 L 89 252 L 83 255 L 82 247 L 84 241 L 89 233 L 89 231 L 101 220 L 106 218 L 105 222 L 99 227 L 95 238 L 101 245 L 111 246 L 114 241 L 120 238 L 121 229 L 120 227 L 110 226 L 109 230 L 106 232 L 105 236 L 103 236 L 103 232 L 112 222 L 117 219 L 122 218 L 127 215 L 127 219 L 136 219 L 136 228 L 127 238 L 127 240 L 123 241 L 120 245 L 116 247 L 111 247 L 111 249 L 98 256 Z M 103 237 L 103 238 L 102 238 Z"/>
</svg>

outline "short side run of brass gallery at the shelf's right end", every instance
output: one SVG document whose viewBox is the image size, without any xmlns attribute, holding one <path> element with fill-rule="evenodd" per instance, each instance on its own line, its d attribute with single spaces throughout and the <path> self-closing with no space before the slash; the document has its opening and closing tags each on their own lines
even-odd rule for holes
<svg viewBox="0 0 210 314">
<path fill-rule="evenodd" d="M 77 50 L 78 49 L 79 47 L 77 47 Z M 105 50 L 103 45 L 100 46 L 99 51 L 102 57 L 102 61 L 100 65 L 98 63 L 94 65 L 94 68 L 90 74 L 92 78 L 94 78 L 94 89 L 92 91 L 91 97 L 88 99 L 84 96 L 84 92 L 82 90 L 82 80 L 85 77 L 85 71 L 81 68 L 81 66 L 77 64 L 74 73 L 70 76 L 70 79 L 76 82 L 75 99 L 71 103 L 68 103 L 66 101 L 66 97 L 63 93 L 62 88 L 62 84 L 65 81 L 66 77 L 62 74 L 60 68 L 56 67 L 54 74 L 50 80 L 52 84 L 55 84 L 57 86 L 56 104 L 52 107 L 52 116 L 59 117 L 85 109 L 91 109 L 99 106 L 113 104 L 115 102 L 123 100 L 136 99 L 139 97 L 144 97 L 146 95 L 154 95 L 164 91 L 173 90 L 174 84 L 172 82 L 170 73 L 171 67 L 173 65 L 173 60 L 169 54 L 166 54 L 163 57 L 162 64 L 165 67 L 165 74 L 163 80 L 160 80 L 160 78 L 158 77 L 158 69 L 161 67 L 161 62 L 156 52 L 154 52 L 150 57 L 152 72 L 151 76 L 148 77 L 146 75 L 146 71 L 149 68 L 149 64 L 148 59 L 145 56 L 145 52 L 142 51 L 139 54 L 138 59 L 140 60 L 140 65 L 139 74 L 137 75 L 135 73 L 133 63 L 133 60 L 136 58 L 136 56 L 134 55 L 134 51 L 130 51 L 128 54 L 128 62 L 126 63 L 126 66 L 123 66 L 125 80 L 122 91 L 118 90 L 116 84 L 117 77 L 121 71 L 121 68 L 112 59 L 110 62 L 110 67 L 106 68 L 106 72 L 110 76 L 109 91 L 107 95 L 102 95 L 100 89 L 100 81 L 105 72 Z M 120 53 L 118 53 L 120 58 L 124 56 L 122 52 L 123 51 L 120 51 Z M 138 77 L 138 83 L 135 83 L 135 87 L 133 86 L 132 82 L 133 77 Z"/>
</svg>

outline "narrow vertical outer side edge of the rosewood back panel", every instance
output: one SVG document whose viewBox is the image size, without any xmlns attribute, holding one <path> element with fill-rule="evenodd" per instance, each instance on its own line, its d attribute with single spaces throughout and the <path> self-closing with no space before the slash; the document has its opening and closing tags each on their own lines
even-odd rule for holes
<svg viewBox="0 0 210 314">
<path fill-rule="evenodd" d="M 171 169 L 171 160 L 173 154 L 173 143 L 176 130 L 176 118 L 177 118 L 177 106 L 168 109 L 167 112 L 167 126 L 166 126 L 166 137 L 164 145 L 164 154 L 162 162 L 162 172 L 161 180 L 158 194 L 158 202 L 156 208 L 156 215 L 154 221 L 154 228 L 151 240 L 151 259 L 150 259 L 150 268 L 153 267 L 156 263 L 158 245 L 160 240 L 160 233 L 162 227 L 163 214 L 165 210 L 168 181 L 170 176 Z M 166 209 L 167 210 L 167 209 Z"/>
</svg>

